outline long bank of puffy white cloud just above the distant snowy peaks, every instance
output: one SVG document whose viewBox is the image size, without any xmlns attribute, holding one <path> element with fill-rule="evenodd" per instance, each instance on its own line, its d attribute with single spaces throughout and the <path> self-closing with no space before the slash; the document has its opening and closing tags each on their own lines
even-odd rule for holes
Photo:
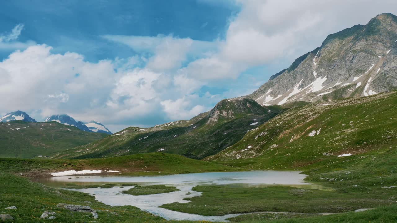
<svg viewBox="0 0 397 223">
<path fill-rule="evenodd" d="M 0 112 L 39 109 L 41 117 L 67 113 L 77 120 L 112 123 L 115 128 L 126 127 L 126 121 L 145 126 L 141 120 L 148 116 L 167 120 L 204 112 L 204 106 L 198 105 L 203 100 L 189 96 L 201 85 L 187 89 L 181 79 L 134 67 L 139 58 L 91 63 L 80 54 L 51 50 L 46 45 L 30 46 L 0 62 L 0 96 L 7 105 Z M 183 103 L 179 97 L 185 97 Z M 172 114 L 172 105 L 181 113 Z"/>
</svg>

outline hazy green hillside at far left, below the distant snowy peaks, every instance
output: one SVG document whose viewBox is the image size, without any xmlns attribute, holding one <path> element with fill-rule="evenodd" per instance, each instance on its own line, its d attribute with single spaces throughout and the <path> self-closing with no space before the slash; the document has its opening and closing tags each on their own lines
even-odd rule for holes
<svg viewBox="0 0 397 223">
<path fill-rule="evenodd" d="M 58 122 L 0 123 L 0 157 L 33 158 L 52 156 L 57 152 L 99 140 L 103 133 L 88 133 Z"/>
</svg>

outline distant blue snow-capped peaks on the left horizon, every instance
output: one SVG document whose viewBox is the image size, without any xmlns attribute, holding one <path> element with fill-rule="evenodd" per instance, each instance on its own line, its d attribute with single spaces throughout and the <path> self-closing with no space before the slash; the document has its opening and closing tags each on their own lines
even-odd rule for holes
<svg viewBox="0 0 397 223">
<path fill-rule="evenodd" d="M 16 112 L 7 113 L 6 115 L 0 118 L 0 122 L 9 122 L 14 120 L 25 121 L 25 122 L 37 122 L 35 119 L 31 118 L 26 112 L 21 112 L 19 110 Z M 108 128 L 106 128 L 103 124 L 99 122 L 90 121 L 83 123 L 81 121 L 76 121 L 75 119 L 73 119 L 72 117 L 66 114 L 51 115 L 50 117 L 44 120 L 44 122 L 48 122 L 48 121 L 56 121 L 64 125 L 71 125 L 86 132 L 106 133 L 112 135 L 112 132 L 110 132 Z"/>
</svg>

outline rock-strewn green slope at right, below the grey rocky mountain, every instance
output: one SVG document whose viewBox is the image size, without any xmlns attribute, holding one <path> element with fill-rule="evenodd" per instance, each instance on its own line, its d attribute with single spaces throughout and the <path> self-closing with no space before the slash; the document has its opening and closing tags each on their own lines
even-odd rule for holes
<svg viewBox="0 0 397 223">
<path fill-rule="evenodd" d="M 396 114 L 396 92 L 294 107 L 207 160 L 299 169 L 341 154 L 365 154 L 395 146 Z"/>
</svg>

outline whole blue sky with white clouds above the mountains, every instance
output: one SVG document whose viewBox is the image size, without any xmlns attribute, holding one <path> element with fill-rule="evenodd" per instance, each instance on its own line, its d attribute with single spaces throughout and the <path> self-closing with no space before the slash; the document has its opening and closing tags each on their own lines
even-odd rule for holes
<svg viewBox="0 0 397 223">
<path fill-rule="evenodd" d="M 252 93 L 331 33 L 395 0 L 0 2 L 0 115 L 110 131 L 190 119 Z"/>
</svg>

